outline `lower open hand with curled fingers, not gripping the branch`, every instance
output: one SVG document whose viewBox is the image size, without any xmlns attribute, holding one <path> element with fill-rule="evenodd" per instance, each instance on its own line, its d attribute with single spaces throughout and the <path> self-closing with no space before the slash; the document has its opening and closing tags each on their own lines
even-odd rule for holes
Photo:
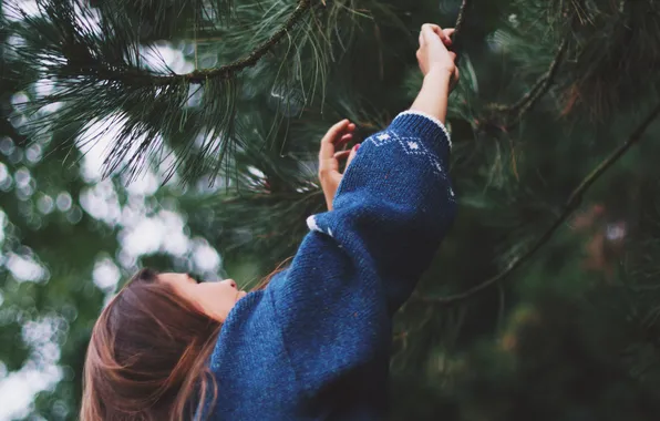
<svg viewBox="0 0 660 421">
<path fill-rule="evenodd" d="M 328 210 L 332 210 L 332 201 L 339 187 L 343 174 L 339 172 L 339 160 L 347 158 L 347 167 L 355 157 L 360 144 L 350 150 L 346 145 L 353 140 L 355 124 L 349 120 L 342 120 L 334 124 L 321 140 L 319 152 L 319 179 L 326 196 Z"/>
</svg>

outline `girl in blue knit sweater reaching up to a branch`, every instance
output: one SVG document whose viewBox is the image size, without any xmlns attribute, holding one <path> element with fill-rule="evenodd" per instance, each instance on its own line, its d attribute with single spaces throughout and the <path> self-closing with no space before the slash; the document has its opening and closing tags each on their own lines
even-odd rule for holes
<svg viewBox="0 0 660 421">
<path fill-rule="evenodd" d="M 417 99 L 351 151 L 343 177 L 336 147 L 355 126 L 323 137 L 331 209 L 308 218 L 290 268 L 266 287 L 148 269 L 127 283 L 92 331 L 83 421 L 385 417 L 392 317 L 455 212 L 443 125 L 458 76 L 451 34 L 422 27 Z"/>
</svg>

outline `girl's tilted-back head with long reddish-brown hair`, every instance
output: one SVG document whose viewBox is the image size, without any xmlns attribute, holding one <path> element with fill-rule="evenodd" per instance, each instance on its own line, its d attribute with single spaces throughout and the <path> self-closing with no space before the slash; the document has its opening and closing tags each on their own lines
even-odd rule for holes
<svg viewBox="0 0 660 421">
<path fill-rule="evenodd" d="M 81 419 L 181 420 L 216 384 L 208 369 L 220 326 L 246 295 L 233 280 L 143 269 L 112 299 L 92 331 Z"/>
</svg>

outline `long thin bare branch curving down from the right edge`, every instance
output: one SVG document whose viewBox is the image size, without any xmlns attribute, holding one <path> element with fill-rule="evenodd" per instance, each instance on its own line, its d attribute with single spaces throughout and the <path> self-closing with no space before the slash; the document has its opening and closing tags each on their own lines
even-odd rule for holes
<svg viewBox="0 0 660 421">
<path fill-rule="evenodd" d="M 626 154 L 635 144 L 637 144 L 649 125 L 660 115 L 660 104 L 658 104 L 649 115 L 641 122 L 641 124 L 632 132 L 630 137 L 619 147 L 617 147 L 606 160 L 604 160 L 598 166 L 596 166 L 589 175 L 587 175 L 582 182 L 573 191 L 564 212 L 557 217 L 547 232 L 542 235 L 538 240 L 529 248 L 525 254 L 515 258 L 509 263 L 508 267 L 496 276 L 467 289 L 464 292 L 447 296 L 447 297 L 415 297 L 420 301 L 437 304 L 443 306 L 454 305 L 464 301 L 467 298 L 475 296 L 476 294 L 487 289 L 488 287 L 499 283 L 512 274 L 515 269 L 527 261 L 536 251 L 538 251 L 555 234 L 555 232 L 568 219 L 568 217 L 579 207 L 585 193 L 591 187 L 591 185 L 607 171 L 609 170 L 621 156 Z"/>
</svg>

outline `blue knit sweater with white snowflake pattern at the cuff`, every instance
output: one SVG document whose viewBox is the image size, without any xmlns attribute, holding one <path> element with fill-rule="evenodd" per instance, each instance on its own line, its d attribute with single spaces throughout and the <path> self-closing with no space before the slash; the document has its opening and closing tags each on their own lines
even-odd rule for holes
<svg viewBox="0 0 660 421">
<path fill-rule="evenodd" d="M 362 143 L 290 268 L 225 321 L 208 419 L 384 418 L 392 316 L 455 213 L 450 146 L 439 121 L 411 112 Z"/>
</svg>

